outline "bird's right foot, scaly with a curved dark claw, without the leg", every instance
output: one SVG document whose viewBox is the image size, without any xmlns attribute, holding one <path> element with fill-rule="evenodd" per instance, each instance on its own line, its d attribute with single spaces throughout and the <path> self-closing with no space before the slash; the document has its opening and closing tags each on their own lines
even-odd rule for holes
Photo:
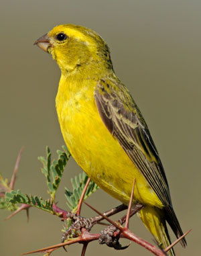
<svg viewBox="0 0 201 256">
<path fill-rule="evenodd" d="M 115 226 L 110 225 L 100 232 L 100 237 L 98 239 L 98 242 L 100 245 L 106 244 L 107 246 L 113 247 L 116 250 L 127 249 L 129 245 L 126 245 L 123 247 L 119 243 L 119 238 L 120 238 L 119 230 Z"/>
</svg>

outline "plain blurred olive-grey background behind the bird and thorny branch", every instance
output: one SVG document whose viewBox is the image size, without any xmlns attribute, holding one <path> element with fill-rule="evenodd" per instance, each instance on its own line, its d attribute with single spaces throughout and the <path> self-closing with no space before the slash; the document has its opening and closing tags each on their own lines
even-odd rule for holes
<svg viewBox="0 0 201 256">
<path fill-rule="evenodd" d="M 64 144 L 54 103 L 60 71 L 51 56 L 33 43 L 58 24 L 87 26 L 109 44 L 115 71 L 131 90 L 149 125 L 182 229 L 193 229 L 187 237 L 188 247 L 175 247 L 177 255 L 200 255 L 200 8 L 201 2 L 196 0 L 1 1 L 3 177 L 11 177 L 19 148 L 24 145 L 15 188 L 47 198 L 37 157 L 45 155 L 46 145 L 55 153 Z M 70 177 L 79 171 L 70 159 L 58 191 L 58 206 L 66 207 L 64 186 L 70 187 Z M 102 211 L 119 204 L 103 191 L 88 202 Z M 9 212 L 1 210 L 1 256 L 60 243 L 62 222 L 34 208 L 29 212 L 27 224 L 25 212 L 4 222 Z M 82 215 L 93 214 L 83 207 Z M 136 216 L 130 227 L 152 242 Z M 80 255 L 80 251 L 81 245 L 72 245 L 68 255 Z M 93 242 L 86 252 L 88 256 L 103 254 L 151 255 L 134 243 L 125 251 L 114 251 Z M 53 255 L 66 253 L 59 249 Z"/>
</svg>

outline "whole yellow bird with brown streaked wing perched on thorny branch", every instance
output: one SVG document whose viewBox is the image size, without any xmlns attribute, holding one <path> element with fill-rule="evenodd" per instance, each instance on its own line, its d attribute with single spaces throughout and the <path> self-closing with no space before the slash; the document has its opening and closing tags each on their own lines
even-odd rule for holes
<svg viewBox="0 0 201 256">
<path fill-rule="evenodd" d="M 72 157 L 98 186 L 128 204 L 163 247 L 170 245 L 166 222 L 176 237 L 182 228 L 147 124 L 128 89 L 115 75 L 109 48 L 96 32 L 72 24 L 56 26 L 38 40 L 62 72 L 56 110 Z M 186 246 L 186 240 L 182 239 Z M 174 255 L 170 250 L 168 255 Z"/>
</svg>

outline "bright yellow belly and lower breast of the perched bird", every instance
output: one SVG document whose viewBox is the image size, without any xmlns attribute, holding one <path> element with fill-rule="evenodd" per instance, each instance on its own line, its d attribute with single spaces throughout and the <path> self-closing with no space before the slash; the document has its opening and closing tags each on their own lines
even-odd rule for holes
<svg viewBox="0 0 201 256">
<path fill-rule="evenodd" d="M 103 124 L 94 101 L 84 101 L 83 105 L 82 102 L 67 104 L 66 109 L 57 106 L 57 111 L 72 157 L 99 187 L 127 204 L 135 178 L 133 200 L 163 207 L 143 175 Z"/>
</svg>

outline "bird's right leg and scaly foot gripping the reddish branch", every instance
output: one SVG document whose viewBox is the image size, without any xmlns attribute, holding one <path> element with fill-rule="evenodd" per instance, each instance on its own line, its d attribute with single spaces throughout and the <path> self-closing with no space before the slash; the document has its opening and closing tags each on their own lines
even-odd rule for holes
<svg viewBox="0 0 201 256">
<path fill-rule="evenodd" d="M 133 208 L 131 208 L 129 218 L 134 214 L 136 214 L 137 212 L 139 212 L 141 208 L 143 208 L 142 204 L 136 204 L 135 206 L 133 206 Z M 117 220 L 117 222 L 122 225 L 123 223 L 126 222 L 126 219 L 127 219 L 127 215 Z M 98 239 L 98 242 L 100 243 L 100 245 L 106 244 L 107 246 L 113 247 L 116 250 L 126 249 L 129 245 L 122 247 L 122 245 L 119 243 L 120 235 L 121 235 L 121 232 L 118 230 L 118 228 L 116 228 L 113 225 L 109 225 L 107 228 L 105 228 L 100 232 L 100 237 Z"/>
</svg>

